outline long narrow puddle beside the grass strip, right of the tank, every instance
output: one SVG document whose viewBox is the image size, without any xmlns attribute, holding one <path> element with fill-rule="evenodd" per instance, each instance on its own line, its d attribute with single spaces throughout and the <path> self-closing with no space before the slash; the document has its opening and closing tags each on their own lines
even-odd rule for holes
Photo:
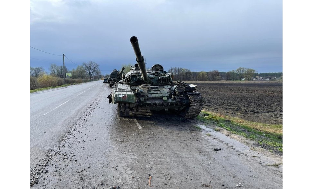
<svg viewBox="0 0 313 189">
<path fill-rule="evenodd" d="M 214 137 L 217 137 L 218 139 L 228 143 L 228 145 L 231 145 L 233 146 L 234 148 L 236 148 L 237 150 L 239 151 L 247 151 L 247 150 L 250 150 L 250 147 L 242 144 L 241 142 L 235 140 L 235 139 L 232 139 L 230 137 L 227 137 L 226 135 L 224 135 L 223 133 L 221 132 L 218 132 L 218 131 L 214 131 L 213 129 L 209 128 L 209 127 L 206 127 L 204 125 L 201 125 L 201 124 L 198 124 L 197 126 L 201 127 L 204 131 L 203 133 L 204 134 L 207 134 L 207 133 L 210 133 L 210 135 L 214 136 Z"/>
</svg>

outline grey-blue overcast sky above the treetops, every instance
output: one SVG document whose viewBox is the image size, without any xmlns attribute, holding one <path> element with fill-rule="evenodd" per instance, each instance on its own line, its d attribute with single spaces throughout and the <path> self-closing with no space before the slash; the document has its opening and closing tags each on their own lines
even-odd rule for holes
<svg viewBox="0 0 313 189">
<path fill-rule="evenodd" d="M 50 72 L 64 54 L 69 70 L 110 73 L 136 63 L 136 36 L 148 68 L 282 72 L 282 17 L 281 0 L 31 0 L 30 67 Z"/>
</svg>

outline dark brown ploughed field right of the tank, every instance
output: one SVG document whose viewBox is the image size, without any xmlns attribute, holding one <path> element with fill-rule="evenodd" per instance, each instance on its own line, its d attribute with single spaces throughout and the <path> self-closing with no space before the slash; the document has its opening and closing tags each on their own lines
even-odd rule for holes
<svg viewBox="0 0 313 189">
<path fill-rule="evenodd" d="M 188 82 L 190 83 L 190 82 Z M 247 121 L 283 124 L 283 82 L 192 82 L 204 110 Z"/>
</svg>

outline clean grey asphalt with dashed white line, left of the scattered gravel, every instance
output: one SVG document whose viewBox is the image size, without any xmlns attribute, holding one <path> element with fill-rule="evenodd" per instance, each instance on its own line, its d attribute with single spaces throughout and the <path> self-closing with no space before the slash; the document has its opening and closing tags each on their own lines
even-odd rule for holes
<svg viewBox="0 0 313 189">
<path fill-rule="evenodd" d="M 30 94 L 30 160 L 36 162 L 100 95 L 102 81 Z"/>
</svg>

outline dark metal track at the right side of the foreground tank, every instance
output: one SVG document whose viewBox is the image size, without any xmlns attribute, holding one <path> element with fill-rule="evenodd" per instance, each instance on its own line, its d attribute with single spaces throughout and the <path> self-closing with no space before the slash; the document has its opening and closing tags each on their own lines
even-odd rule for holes
<svg viewBox="0 0 313 189">
<path fill-rule="evenodd" d="M 200 92 L 188 92 L 187 96 L 189 98 L 189 107 L 186 108 L 185 118 L 195 118 L 203 109 L 203 100 Z"/>
</svg>

